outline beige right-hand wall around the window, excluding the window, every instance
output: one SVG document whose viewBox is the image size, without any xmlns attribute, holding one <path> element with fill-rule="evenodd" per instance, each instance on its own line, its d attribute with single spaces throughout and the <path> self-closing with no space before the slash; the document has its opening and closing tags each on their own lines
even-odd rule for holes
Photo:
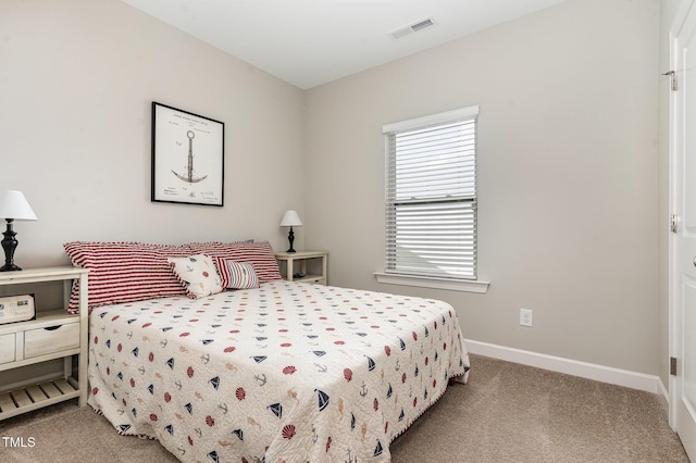
<svg viewBox="0 0 696 463">
<path fill-rule="evenodd" d="M 470 339 L 658 374 L 659 9 L 571 0 L 309 90 L 304 232 L 331 284 L 447 300 Z M 377 284 L 382 125 L 471 104 L 488 293 Z"/>
</svg>

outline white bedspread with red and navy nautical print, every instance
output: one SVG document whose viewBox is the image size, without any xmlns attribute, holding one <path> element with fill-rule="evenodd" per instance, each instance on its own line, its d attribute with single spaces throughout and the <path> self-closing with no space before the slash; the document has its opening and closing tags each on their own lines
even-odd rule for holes
<svg viewBox="0 0 696 463">
<path fill-rule="evenodd" d="M 445 302 L 289 281 L 96 308 L 89 403 L 186 462 L 388 462 L 469 358 Z"/>
</svg>

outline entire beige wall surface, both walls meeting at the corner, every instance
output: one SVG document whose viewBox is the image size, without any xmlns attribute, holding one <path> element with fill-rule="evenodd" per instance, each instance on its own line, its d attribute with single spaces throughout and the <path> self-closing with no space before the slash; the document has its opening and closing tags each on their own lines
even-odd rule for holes
<svg viewBox="0 0 696 463">
<path fill-rule="evenodd" d="M 659 8 L 571 0 L 302 92 L 119 0 L 4 0 L 0 188 L 39 216 L 16 262 L 66 263 L 75 239 L 283 248 L 297 209 L 296 247 L 331 252 L 331 284 L 445 299 L 468 338 L 662 374 Z M 224 208 L 150 202 L 152 100 L 225 122 Z M 378 285 L 382 125 L 470 104 L 489 292 Z"/>
</svg>

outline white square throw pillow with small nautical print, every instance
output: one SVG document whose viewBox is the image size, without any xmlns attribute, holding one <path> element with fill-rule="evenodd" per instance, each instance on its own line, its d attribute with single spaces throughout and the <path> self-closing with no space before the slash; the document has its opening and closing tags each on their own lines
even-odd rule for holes
<svg viewBox="0 0 696 463">
<path fill-rule="evenodd" d="M 213 260 L 206 254 L 166 260 L 184 285 L 189 298 L 198 299 L 222 292 L 224 289 Z"/>
</svg>

